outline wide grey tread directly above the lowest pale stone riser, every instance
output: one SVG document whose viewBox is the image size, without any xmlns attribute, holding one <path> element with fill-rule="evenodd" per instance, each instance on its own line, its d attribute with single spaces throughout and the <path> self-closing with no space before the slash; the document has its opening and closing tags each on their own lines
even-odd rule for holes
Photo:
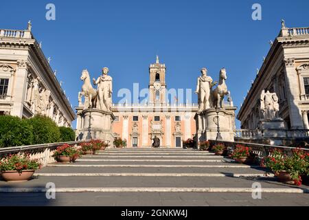
<svg viewBox="0 0 309 220">
<path fill-rule="evenodd" d="M 259 182 L 262 188 L 305 188 L 289 186 L 275 179 L 258 177 L 38 177 L 23 183 L 0 181 L 0 188 L 45 187 L 53 182 L 56 188 L 251 188 Z"/>
</svg>

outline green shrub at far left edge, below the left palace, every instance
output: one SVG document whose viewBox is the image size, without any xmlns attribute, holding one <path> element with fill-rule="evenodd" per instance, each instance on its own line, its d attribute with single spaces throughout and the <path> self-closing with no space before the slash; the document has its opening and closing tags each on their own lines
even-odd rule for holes
<svg viewBox="0 0 309 220">
<path fill-rule="evenodd" d="M 0 116 L 0 147 L 29 145 L 33 142 L 32 124 L 12 115 Z"/>
</svg>

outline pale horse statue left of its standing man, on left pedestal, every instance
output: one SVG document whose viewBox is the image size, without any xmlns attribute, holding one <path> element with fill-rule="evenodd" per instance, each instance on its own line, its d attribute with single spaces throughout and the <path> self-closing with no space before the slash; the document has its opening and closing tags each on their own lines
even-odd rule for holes
<svg viewBox="0 0 309 220">
<path fill-rule="evenodd" d="M 93 89 L 91 85 L 91 80 L 89 76 L 89 72 L 87 69 L 82 71 L 82 76 L 80 76 L 80 80 L 84 81 L 84 85 L 82 85 L 82 91 L 78 92 L 78 103 L 81 104 L 82 96 L 89 98 L 89 107 L 96 107 L 97 100 L 97 89 Z"/>
</svg>

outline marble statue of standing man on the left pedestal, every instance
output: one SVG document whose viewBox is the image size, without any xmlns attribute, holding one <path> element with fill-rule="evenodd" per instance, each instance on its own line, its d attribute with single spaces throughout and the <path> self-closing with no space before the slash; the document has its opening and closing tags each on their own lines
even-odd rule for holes
<svg viewBox="0 0 309 220">
<path fill-rule="evenodd" d="M 108 76 L 108 68 L 104 67 L 102 69 L 102 76 L 99 76 L 97 80 L 93 78 L 93 84 L 98 85 L 98 102 L 97 107 L 100 105 L 102 111 L 111 111 L 113 94 L 113 78 Z"/>
</svg>

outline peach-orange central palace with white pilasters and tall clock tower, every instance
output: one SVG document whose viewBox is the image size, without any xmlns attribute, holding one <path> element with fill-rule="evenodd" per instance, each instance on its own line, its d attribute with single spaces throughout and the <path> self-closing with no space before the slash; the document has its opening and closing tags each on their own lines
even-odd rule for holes
<svg viewBox="0 0 309 220">
<path fill-rule="evenodd" d="M 196 133 L 197 104 L 169 103 L 165 64 L 149 67 L 149 100 L 145 104 L 113 104 L 113 135 L 127 140 L 128 147 L 152 146 L 157 136 L 163 147 L 182 147 L 183 140 Z"/>
</svg>

